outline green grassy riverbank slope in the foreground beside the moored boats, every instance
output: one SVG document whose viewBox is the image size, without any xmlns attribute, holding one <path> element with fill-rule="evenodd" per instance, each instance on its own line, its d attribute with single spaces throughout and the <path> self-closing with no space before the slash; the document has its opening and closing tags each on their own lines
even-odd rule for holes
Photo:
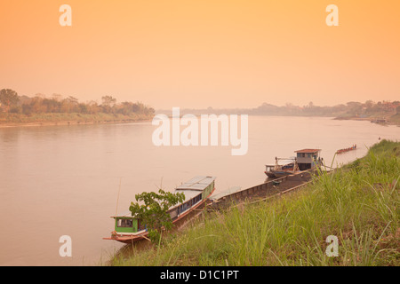
<svg viewBox="0 0 400 284">
<path fill-rule="evenodd" d="M 399 265 L 399 179 L 400 143 L 383 140 L 299 192 L 206 213 L 159 248 L 127 246 L 111 264 Z M 325 254 L 330 235 L 339 256 Z"/>
</svg>

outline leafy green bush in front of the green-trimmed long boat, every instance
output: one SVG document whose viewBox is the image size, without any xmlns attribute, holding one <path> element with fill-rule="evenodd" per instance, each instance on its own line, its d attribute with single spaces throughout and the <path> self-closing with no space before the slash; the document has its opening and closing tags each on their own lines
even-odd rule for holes
<svg viewBox="0 0 400 284">
<path fill-rule="evenodd" d="M 185 201 L 185 194 L 169 193 L 159 189 L 158 193 L 136 194 L 135 199 L 137 202 L 131 202 L 129 207 L 132 216 L 146 224 L 148 237 L 152 242 L 158 243 L 161 238 L 161 231 L 172 228 L 172 218 L 168 209 Z"/>
</svg>

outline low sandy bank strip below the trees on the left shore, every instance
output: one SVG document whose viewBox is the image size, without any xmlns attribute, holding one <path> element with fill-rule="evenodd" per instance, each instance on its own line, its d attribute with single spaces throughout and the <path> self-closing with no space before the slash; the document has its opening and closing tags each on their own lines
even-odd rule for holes
<svg viewBox="0 0 400 284">
<path fill-rule="evenodd" d="M 153 114 L 77 114 L 77 113 L 52 113 L 52 114 L 0 114 L 0 128 L 16 126 L 44 126 L 44 125 L 69 125 L 69 124 L 94 124 L 116 122 L 142 122 L 149 121 Z"/>
</svg>

